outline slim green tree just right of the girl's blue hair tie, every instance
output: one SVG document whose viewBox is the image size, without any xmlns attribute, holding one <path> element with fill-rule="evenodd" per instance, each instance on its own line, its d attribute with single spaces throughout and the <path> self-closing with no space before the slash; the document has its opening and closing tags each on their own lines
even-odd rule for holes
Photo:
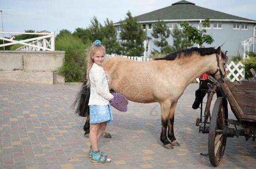
<svg viewBox="0 0 256 169">
<path fill-rule="evenodd" d="M 116 38 L 117 32 L 115 26 L 113 25 L 112 20 L 109 20 L 108 18 L 104 21 L 104 24 L 104 27 L 102 27 L 102 44 L 106 47 L 106 53 L 118 53 L 119 44 Z"/>
</svg>

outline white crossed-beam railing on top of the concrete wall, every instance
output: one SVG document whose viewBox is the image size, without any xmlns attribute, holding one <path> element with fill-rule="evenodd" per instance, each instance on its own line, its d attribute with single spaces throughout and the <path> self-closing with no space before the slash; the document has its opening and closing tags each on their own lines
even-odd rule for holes
<svg viewBox="0 0 256 169">
<path fill-rule="evenodd" d="M 21 44 L 24 45 L 16 50 L 55 50 L 55 37 L 54 33 L 17 33 L 17 32 L 0 32 L 0 34 L 26 34 L 26 35 L 43 35 L 37 38 L 30 38 L 26 40 L 13 40 L 12 38 L 3 38 L 0 37 L 0 40 L 5 40 L 10 43 L 5 43 L 0 45 L 0 47 Z"/>
</svg>

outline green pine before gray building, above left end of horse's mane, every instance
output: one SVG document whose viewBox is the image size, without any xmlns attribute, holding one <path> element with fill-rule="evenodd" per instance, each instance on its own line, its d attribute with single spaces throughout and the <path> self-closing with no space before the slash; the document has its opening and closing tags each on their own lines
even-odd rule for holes
<svg viewBox="0 0 256 169">
<path fill-rule="evenodd" d="M 170 45 L 168 45 L 168 42 L 166 39 L 169 38 L 170 36 L 170 30 L 163 20 L 158 20 L 155 23 L 153 27 L 153 32 L 151 33 L 151 35 L 155 39 L 157 39 L 153 41 L 154 45 L 160 48 L 160 52 L 156 49 L 154 49 L 154 52 L 169 53 Z"/>
</svg>

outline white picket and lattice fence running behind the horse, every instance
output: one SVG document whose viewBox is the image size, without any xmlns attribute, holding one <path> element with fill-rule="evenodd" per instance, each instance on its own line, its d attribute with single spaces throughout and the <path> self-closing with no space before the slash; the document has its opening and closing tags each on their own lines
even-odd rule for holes
<svg viewBox="0 0 256 169">
<path fill-rule="evenodd" d="M 119 55 L 106 55 L 107 57 L 112 57 L 112 56 L 119 56 Z M 121 56 L 124 58 L 131 59 L 133 61 L 151 61 L 151 58 L 148 57 L 138 57 L 138 56 Z M 240 81 L 245 78 L 245 69 L 244 65 L 241 62 L 238 62 L 235 64 L 233 61 L 231 61 L 227 65 L 227 79 L 231 82 L 233 81 Z M 196 78 L 196 81 L 199 83 L 199 78 Z"/>
</svg>

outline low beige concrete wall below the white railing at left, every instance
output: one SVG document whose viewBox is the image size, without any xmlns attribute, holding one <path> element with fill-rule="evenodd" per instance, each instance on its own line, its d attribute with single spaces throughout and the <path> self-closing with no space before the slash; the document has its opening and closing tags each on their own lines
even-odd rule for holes
<svg viewBox="0 0 256 169">
<path fill-rule="evenodd" d="M 65 78 L 56 73 L 64 57 L 65 51 L 0 50 L 0 81 L 65 83 Z"/>
</svg>

